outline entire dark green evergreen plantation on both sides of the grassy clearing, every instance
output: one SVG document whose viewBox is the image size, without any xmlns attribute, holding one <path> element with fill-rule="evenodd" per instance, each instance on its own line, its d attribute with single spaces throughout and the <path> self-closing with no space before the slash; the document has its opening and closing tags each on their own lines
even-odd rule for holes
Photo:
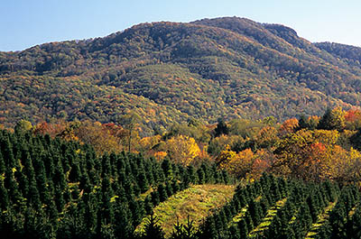
<svg viewBox="0 0 361 239">
<path fill-rule="evenodd" d="M 126 152 L 98 157 L 88 145 L 28 133 L 0 131 L 0 145 L 5 165 L 0 175 L 0 234 L 5 238 L 133 238 L 142 218 L 180 189 L 233 180 L 209 163 L 184 168 Z M 150 189 L 140 199 L 140 193 Z M 303 238 L 333 201 L 338 203 L 317 236 L 357 238 L 360 234 L 361 197 L 355 186 L 340 190 L 330 181 L 306 184 L 264 174 L 255 183 L 240 184 L 234 198 L 205 218 L 199 230 L 189 218 L 186 225 L 176 225 L 172 236 L 246 238 L 283 198 L 286 203 L 269 229 L 255 237 Z M 232 223 L 244 209 L 245 216 Z M 163 238 L 155 218 L 139 236 Z"/>
</svg>

